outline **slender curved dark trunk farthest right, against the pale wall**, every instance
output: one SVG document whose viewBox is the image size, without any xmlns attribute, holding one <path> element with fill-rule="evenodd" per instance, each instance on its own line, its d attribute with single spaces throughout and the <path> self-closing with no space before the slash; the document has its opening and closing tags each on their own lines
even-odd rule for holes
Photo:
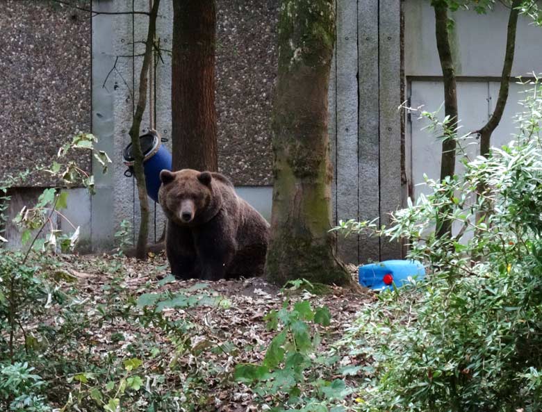
<svg viewBox="0 0 542 412">
<path fill-rule="evenodd" d="M 507 49 L 504 53 L 504 64 L 502 65 L 502 74 L 500 77 L 499 97 L 495 104 L 495 110 L 488 122 L 478 131 L 480 135 L 480 154 L 487 156 L 491 146 L 491 134 L 497 128 L 504 113 L 504 106 L 508 100 L 508 90 L 510 85 L 510 74 L 514 64 L 514 51 L 516 49 L 516 28 L 518 26 L 518 15 L 522 0 L 514 0 L 511 4 L 510 15 L 507 28 Z"/>
</svg>

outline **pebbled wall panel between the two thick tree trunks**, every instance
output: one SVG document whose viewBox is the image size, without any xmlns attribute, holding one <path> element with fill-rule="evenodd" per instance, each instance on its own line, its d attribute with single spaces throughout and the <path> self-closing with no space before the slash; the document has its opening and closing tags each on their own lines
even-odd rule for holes
<svg viewBox="0 0 542 412">
<path fill-rule="evenodd" d="M 220 171 L 270 185 L 278 0 L 217 1 L 216 108 Z"/>
</svg>

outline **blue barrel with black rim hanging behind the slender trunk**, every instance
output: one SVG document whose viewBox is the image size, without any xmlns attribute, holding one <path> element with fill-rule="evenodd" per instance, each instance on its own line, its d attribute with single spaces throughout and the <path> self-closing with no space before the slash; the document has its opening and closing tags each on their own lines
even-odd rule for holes
<svg viewBox="0 0 542 412">
<path fill-rule="evenodd" d="M 160 189 L 160 172 L 164 169 L 172 169 L 171 154 L 166 147 L 162 145 L 160 136 L 156 131 L 149 131 L 139 137 L 141 150 L 143 152 L 143 168 L 145 170 L 145 186 L 147 186 L 147 195 L 154 201 L 158 201 L 158 189 Z M 133 154 L 132 144 L 130 143 L 124 149 L 122 154 L 124 164 L 128 166 L 125 176 L 133 174 Z"/>
</svg>

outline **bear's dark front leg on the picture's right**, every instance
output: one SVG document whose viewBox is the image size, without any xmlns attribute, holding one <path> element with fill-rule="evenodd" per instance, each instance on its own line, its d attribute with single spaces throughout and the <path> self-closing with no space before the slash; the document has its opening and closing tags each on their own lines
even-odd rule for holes
<svg viewBox="0 0 542 412">
<path fill-rule="evenodd" d="M 201 278 L 208 281 L 225 279 L 236 254 L 236 240 L 221 213 L 195 230 L 194 240 Z"/>
</svg>

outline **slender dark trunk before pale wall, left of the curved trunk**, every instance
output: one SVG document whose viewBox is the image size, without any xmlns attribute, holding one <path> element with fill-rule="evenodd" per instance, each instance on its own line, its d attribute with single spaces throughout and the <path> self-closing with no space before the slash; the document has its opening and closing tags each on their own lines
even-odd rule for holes
<svg viewBox="0 0 542 412">
<path fill-rule="evenodd" d="M 448 32 L 447 3 L 444 0 L 436 0 L 432 4 L 435 10 L 436 48 L 438 49 L 438 58 L 441 61 L 444 80 L 444 112 L 449 119 L 442 142 L 441 181 L 443 181 L 447 176 L 453 176 L 455 173 L 457 122 L 459 120 L 457 115 L 457 85 L 452 47 L 450 45 L 450 33 Z M 453 193 L 449 195 L 452 197 Z M 437 222 L 436 233 L 439 237 L 445 234 L 451 235 L 452 221 L 447 218 L 441 219 Z"/>
</svg>

